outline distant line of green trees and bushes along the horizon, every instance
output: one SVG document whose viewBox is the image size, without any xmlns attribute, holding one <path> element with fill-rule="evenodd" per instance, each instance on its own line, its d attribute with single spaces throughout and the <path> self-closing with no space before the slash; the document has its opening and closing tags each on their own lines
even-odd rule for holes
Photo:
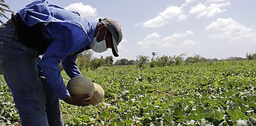
<svg viewBox="0 0 256 126">
<path fill-rule="evenodd" d="M 174 56 L 158 56 L 156 52 L 152 52 L 152 56 L 137 56 L 136 60 L 133 59 L 117 59 L 114 62 L 113 56 L 93 57 L 93 52 L 87 50 L 78 55 L 76 63 L 79 69 L 97 69 L 101 66 L 114 66 L 114 65 L 136 65 L 138 68 L 143 69 L 145 67 L 165 67 L 171 65 L 190 65 L 200 62 L 213 62 L 213 61 L 241 61 L 241 60 L 255 60 L 255 53 L 246 53 L 246 58 L 242 57 L 229 57 L 228 59 L 206 59 L 199 54 L 195 54 L 192 57 L 186 57 L 186 54 L 174 55 Z"/>
</svg>

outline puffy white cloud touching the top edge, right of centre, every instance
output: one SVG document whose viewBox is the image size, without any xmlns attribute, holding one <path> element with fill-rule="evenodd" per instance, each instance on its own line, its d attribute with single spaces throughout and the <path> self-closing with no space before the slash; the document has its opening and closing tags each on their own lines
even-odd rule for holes
<svg viewBox="0 0 256 126">
<path fill-rule="evenodd" d="M 197 18 L 201 18 L 202 16 L 212 17 L 216 14 L 220 14 L 225 12 L 225 7 L 229 6 L 230 3 L 225 0 L 208 0 L 207 2 L 198 3 L 197 5 L 190 7 L 190 14 L 197 14 Z"/>
</svg>

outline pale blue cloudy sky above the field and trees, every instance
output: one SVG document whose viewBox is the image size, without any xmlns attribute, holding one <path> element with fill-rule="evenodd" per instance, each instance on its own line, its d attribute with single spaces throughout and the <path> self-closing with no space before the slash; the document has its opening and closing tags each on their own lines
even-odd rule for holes
<svg viewBox="0 0 256 126">
<path fill-rule="evenodd" d="M 5 0 L 16 12 L 31 2 Z M 117 59 L 139 55 L 199 54 L 205 58 L 245 57 L 256 52 L 255 0 L 48 0 L 91 21 L 119 21 L 124 39 Z M 106 57 L 111 50 L 94 53 Z"/>
</svg>

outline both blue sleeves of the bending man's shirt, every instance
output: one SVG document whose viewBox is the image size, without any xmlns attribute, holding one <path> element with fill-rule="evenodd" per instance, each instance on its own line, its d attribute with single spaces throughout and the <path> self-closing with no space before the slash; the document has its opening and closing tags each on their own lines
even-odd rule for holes
<svg viewBox="0 0 256 126">
<path fill-rule="evenodd" d="M 76 56 L 68 55 L 81 50 L 89 44 L 89 41 L 83 30 L 76 25 L 55 22 L 49 24 L 46 29 L 53 37 L 53 42 L 48 46 L 39 67 L 59 98 L 65 99 L 70 94 L 63 83 L 59 63 L 62 62 L 65 72 L 71 78 L 82 76 L 75 63 Z"/>
</svg>

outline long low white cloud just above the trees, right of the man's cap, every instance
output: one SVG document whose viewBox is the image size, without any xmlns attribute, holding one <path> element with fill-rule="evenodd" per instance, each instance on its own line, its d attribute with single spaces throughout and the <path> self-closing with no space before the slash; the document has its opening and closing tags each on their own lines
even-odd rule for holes
<svg viewBox="0 0 256 126">
<path fill-rule="evenodd" d="M 193 35 L 193 31 L 186 31 L 185 33 L 173 33 L 173 35 L 163 38 L 161 38 L 158 33 L 152 33 L 147 35 L 147 37 L 145 37 L 142 41 L 137 42 L 137 45 L 141 46 L 141 48 L 149 48 L 152 46 L 170 48 L 174 46 L 173 42 L 180 42 L 186 39 L 188 35 Z M 192 44 L 192 42 L 190 42 L 190 44 Z"/>
</svg>

